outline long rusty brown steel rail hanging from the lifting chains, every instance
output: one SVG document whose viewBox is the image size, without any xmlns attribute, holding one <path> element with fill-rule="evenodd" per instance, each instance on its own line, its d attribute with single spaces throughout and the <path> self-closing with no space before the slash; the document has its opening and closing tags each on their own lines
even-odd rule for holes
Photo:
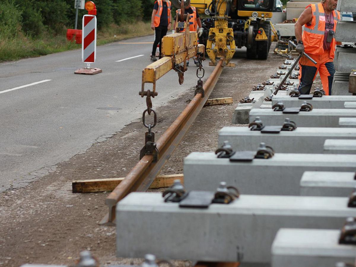
<svg viewBox="0 0 356 267">
<path fill-rule="evenodd" d="M 117 185 L 117 187 L 106 198 L 105 204 L 109 207 L 109 213 L 100 221 L 101 225 L 115 225 L 115 208 L 116 203 L 124 198 L 127 194 L 134 191 L 146 191 L 153 180 L 159 174 L 164 164 L 168 161 L 173 151 L 183 139 L 185 133 L 190 128 L 198 116 L 200 110 L 203 108 L 206 100 L 208 100 L 211 91 L 213 91 L 216 82 L 223 70 L 223 60 L 220 59 L 216 65 L 213 73 L 209 76 L 203 85 L 205 96 L 201 93 L 194 96 L 192 101 L 182 111 L 178 118 L 171 126 L 163 133 L 163 135 L 156 141 L 159 151 L 158 161 L 153 161 L 152 155 L 145 155 L 135 167 L 127 174 L 124 180 Z"/>
</svg>

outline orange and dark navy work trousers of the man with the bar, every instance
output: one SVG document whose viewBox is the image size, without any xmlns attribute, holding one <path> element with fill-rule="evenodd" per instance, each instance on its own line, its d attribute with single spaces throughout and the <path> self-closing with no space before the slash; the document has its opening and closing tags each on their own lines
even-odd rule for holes
<svg viewBox="0 0 356 267">
<path fill-rule="evenodd" d="M 299 86 L 300 94 L 310 94 L 316 74 L 319 72 L 321 83 L 325 95 L 331 95 L 331 85 L 333 84 L 335 69 L 334 59 L 330 58 L 330 50 L 325 51 L 321 55 L 309 54 L 317 64 L 315 65 L 307 57 L 302 57 L 299 60 Z"/>
</svg>

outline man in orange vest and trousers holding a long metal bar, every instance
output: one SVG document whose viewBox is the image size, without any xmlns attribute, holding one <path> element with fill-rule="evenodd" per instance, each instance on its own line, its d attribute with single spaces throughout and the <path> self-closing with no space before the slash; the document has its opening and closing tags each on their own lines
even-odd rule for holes
<svg viewBox="0 0 356 267">
<path fill-rule="evenodd" d="M 334 78 L 334 54 L 336 24 L 340 21 L 340 12 L 336 11 L 337 0 L 322 0 L 319 4 L 310 4 L 295 23 L 299 53 L 307 53 L 317 64 L 306 57 L 299 61 L 299 87 L 301 94 L 309 94 L 319 71 L 321 83 L 326 95 L 331 95 Z M 303 36 L 302 26 L 305 25 Z"/>
</svg>

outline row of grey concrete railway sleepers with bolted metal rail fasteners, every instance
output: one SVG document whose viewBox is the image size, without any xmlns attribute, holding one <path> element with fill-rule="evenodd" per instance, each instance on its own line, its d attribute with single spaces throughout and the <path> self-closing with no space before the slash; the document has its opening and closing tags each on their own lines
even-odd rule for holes
<svg viewBox="0 0 356 267">
<path fill-rule="evenodd" d="M 224 127 L 215 153 L 184 159 L 184 185 L 117 203 L 118 257 L 353 266 L 345 262 L 356 256 L 356 96 L 298 95 L 284 78 L 241 99 L 249 127 Z M 292 93 L 261 101 L 284 82 Z"/>
</svg>

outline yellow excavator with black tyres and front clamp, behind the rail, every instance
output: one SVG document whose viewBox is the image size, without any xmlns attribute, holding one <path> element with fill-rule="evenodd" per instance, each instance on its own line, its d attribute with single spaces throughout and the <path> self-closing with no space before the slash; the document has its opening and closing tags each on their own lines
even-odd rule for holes
<svg viewBox="0 0 356 267">
<path fill-rule="evenodd" d="M 247 58 L 267 59 L 272 39 L 278 39 L 270 21 L 275 1 L 190 0 L 200 14 L 207 15 L 201 18 L 203 34 L 199 43 L 206 46 L 211 62 L 216 64 L 216 58 L 224 57 L 225 65 L 234 55 L 235 47 L 243 46 L 247 48 Z"/>
</svg>

